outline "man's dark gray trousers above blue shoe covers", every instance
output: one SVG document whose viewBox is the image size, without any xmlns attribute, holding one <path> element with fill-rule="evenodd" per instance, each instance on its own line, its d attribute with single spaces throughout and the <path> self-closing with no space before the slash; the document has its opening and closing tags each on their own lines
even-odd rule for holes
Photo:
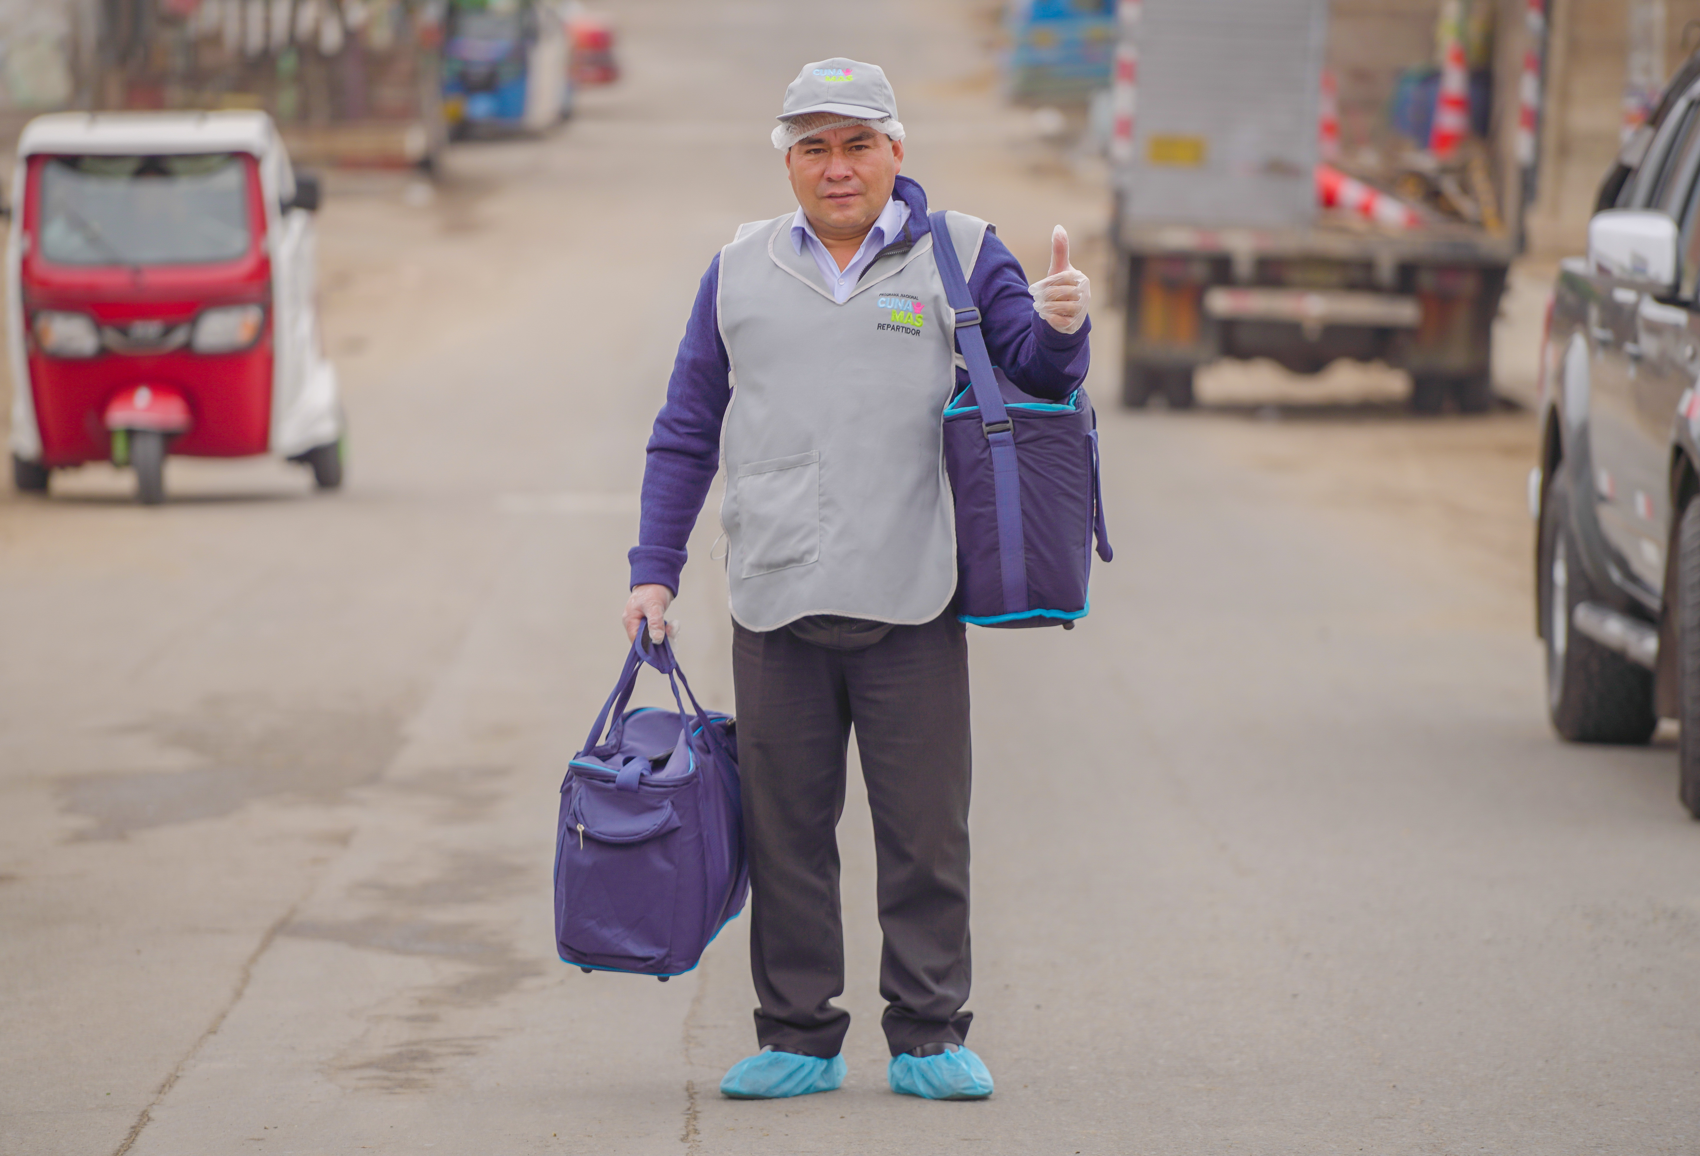
<svg viewBox="0 0 1700 1156">
<path fill-rule="evenodd" d="M 838 906 L 838 818 L 855 728 L 874 813 L 891 1054 L 967 1035 L 967 638 L 925 626 L 733 624 L 738 767 L 750 848 L 756 1040 L 836 1056 L 850 1013 Z M 801 634 L 801 636 L 799 636 Z M 811 641 L 804 641 L 809 638 Z M 877 638 L 872 644 L 869 638 Z"/>
</svg>

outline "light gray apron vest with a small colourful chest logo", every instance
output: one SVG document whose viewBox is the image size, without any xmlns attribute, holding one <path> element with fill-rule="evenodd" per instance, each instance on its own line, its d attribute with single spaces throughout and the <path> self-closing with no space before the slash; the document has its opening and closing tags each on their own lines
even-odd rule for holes
<svg viewBox="0 0 1700 1156">
<path fill-rule="evenodd" d="M 733 617 L 750 631 L 816 614 L 930 622 L 957 578 L 944 459 L 955 326 L 933 236 L 876 260 L 838 304 L 790 221 L 745 224 L 721 250 Z M 949 223 L 972 272 L 986 223 Z"/>
</svg>

